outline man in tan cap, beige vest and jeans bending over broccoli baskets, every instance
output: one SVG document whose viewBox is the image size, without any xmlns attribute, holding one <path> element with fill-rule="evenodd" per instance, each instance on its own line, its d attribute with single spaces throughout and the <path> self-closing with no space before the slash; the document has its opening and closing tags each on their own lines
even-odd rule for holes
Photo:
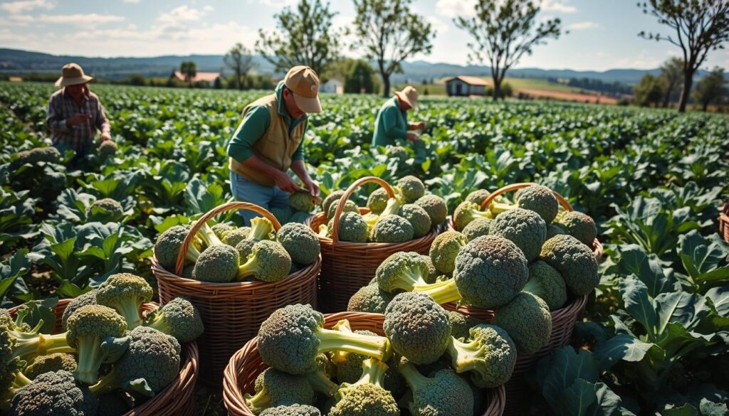
<svg viewBox="0 0 729 416">
<path fill-rule="evenodd" d="M 269 211 L 287 208 L 289 194 L 301 190 L 289 168 L 311 195 L 319 196 L 319 185 L 306 170 L 303 143 L 307 114 L 319 111 L 319 76 L 308 66 L 291 68 L 273 94 L 243 109 L 227 146 L 230 188 L 237 200 Z M 250 224 L 258 214 L 241 210 L 241 216 Z"/>
</svg>

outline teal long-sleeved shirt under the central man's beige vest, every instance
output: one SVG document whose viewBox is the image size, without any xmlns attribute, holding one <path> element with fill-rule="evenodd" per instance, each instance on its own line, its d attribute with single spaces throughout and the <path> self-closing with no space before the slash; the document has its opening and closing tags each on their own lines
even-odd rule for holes
<svg viewBox="0 0 729 416">
<path fill-rule="evenodd" d="M 276 86 L 276 99 L 278 100 L 278 114 L 286 119 L 289 123 L 289 133 L 294 130 L 300 122 L 306 121 L 306 115 L 298 119 L 292 118 L 289 115 L 289 111 L 286 111 L 283 98 L 284 82 L 281 81 Z M 227 146 L 227 154 L 238 162 L 248 159 L 253 156 L 252 147 L 263 136 L 263 133 L 268 129 L 271 124 L 270 114 L 268 109 L 262 106 L 251 107 L 246 113 L 246 117 L 243 117 L 243 121 L 238 125 L 238 129 L 233 133 L 233 138 Z M 304 127 L 304 134 L 306 134 L 306 127 Z M 304 159 L 304 141 L 302 140 L 296 151 L 291 157 L 291 160 L 303 160 Z"/>
</svg>

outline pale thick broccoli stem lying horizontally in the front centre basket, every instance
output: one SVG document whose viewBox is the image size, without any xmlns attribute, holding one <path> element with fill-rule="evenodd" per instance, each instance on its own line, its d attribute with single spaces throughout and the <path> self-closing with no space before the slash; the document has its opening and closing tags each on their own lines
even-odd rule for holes
<svg viewBox="0 0 729 416">
<path fill-rule="evenodd" d="M 377 358 L 384 361 L 391 353 L 390 343 L 386 337 L 332 331 L 332 329 L 318 329 L 316 337 L 319 338 L 319 352 L 346 351 L 348 353 L 362 354 L 363 356 Z"/>
</svg>

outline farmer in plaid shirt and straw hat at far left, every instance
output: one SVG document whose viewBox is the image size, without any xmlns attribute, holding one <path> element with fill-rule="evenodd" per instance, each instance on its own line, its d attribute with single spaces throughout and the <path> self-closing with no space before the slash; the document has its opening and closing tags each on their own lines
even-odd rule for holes
<svg viewBox="0 0 729 416">
<path fill-rule="evenodd" d="M 74 161 L 88 154 L 95 144 L 97 130 L 101 132 L 101 141 L 112 140 L 104 106 L 87 85 L 92 79 L 93 76 L 85 75 L 77 63 L 66 64 L 61 70 L 61 78 L 55 82 L 61 90 L 53 93 L 48 101 L 46 124 L 51 131 L 53 146 L 61 152 L 66 149 L 76 151 Z"/>
</svg>

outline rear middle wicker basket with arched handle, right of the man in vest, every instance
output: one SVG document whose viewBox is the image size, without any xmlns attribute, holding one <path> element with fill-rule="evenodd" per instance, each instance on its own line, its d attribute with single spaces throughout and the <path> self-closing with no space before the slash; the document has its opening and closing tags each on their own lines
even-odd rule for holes
<svg viewBox="0 0 729 416">
<path fill-rule="evenodd" d="M 349 298 L 375 277 L 375 270 L 384 259 L 397 251 L 416 251 L 428 254 L 430 245 L 438 235 L 438 227 L 432 227 L 427 235 L 407 243 L 349 243 L 338 238 L 339 217 L 344 204 L 352 193 L 364 184 L 378 184 L 390 197 L 392 187 L 381 178 L 367 176 L 351 184 L 339 200 L 334 214 L 332 238 L 319 238 L 321 242 L 321 278 L 319 278 L 319 307 L 327 313 L 347 309 Z M 369 212 L 359 208 L 361 213 Z M 319 225 L 327 224 L 327 214 L 318 213 L 311 219 L 310 227 L 319 231 Z"/>
</svg>

